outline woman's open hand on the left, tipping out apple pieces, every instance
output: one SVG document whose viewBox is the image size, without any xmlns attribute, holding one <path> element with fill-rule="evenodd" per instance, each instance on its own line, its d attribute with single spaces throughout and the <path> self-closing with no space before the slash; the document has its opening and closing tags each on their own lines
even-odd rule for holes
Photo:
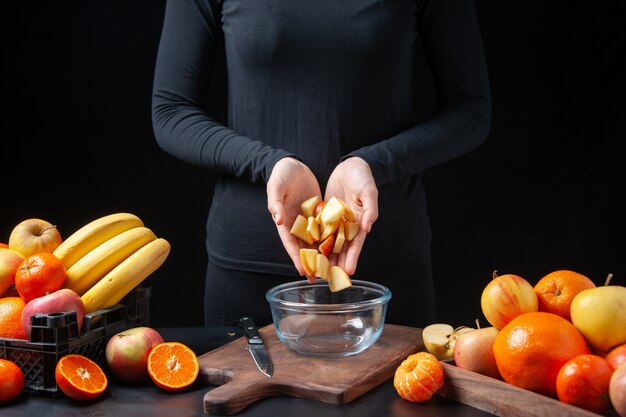
<svg viewBox="0 0 626 417">
<path fill-rule="evenodd" d="M 320 196 L 320 186 L 313 172 L 295 158 L 283 158 L 276 162 L 267 181 L 267 209 L 269 210 L 280 240 L 300 275 L 306 275 L 300 260 L 300 248 L 305 243 L 290 233 L 291 226 L 300 213 L 300 204 L 310 197 Z M 315 277 L 308 277 L 310 282 Z"/>
</svg>

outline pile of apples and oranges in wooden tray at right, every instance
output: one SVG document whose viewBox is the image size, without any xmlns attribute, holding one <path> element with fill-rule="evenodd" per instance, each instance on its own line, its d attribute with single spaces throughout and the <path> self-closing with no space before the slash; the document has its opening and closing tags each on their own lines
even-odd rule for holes
<svg viewBox="0 0 626 417">
<path fill-rule="evenodd" d="M 481 296 L 480 328 L 426 326 L 422 339 L 439 360 L 595 413 L 626 416 L 626 287 L 596 286 L 570 270 L 533 286 L 496 275 Z"/>
</svg>

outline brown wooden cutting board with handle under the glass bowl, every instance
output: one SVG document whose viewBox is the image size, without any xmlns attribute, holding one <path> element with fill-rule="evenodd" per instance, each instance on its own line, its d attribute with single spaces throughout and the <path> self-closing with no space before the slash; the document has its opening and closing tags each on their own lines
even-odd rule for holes
<svg viewBox="0 0 626 417">
<path fill-rule="evenodd" d="M 218 385 L 204 396 L 205 413 L 231 415 L 274 396 L 345 404 L 391 378 L 400 362 L 424 349 L 421 329 L 393 324 L 385 324 L 372 347 L 343 358 L 296 353 L 278 339 L 273 325 L 260 332 L 274 364 L 271 378 L 257 369 L 243 337 L 198 358 L 199 381 Z"/>
</svg>

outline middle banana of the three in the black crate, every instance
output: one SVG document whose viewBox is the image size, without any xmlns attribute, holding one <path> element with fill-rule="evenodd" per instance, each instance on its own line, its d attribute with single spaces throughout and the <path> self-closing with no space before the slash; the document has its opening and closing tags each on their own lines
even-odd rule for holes
<svg viewBox="0 0 626 417">
<path fill-rule="evenodd" d="M 65 288 L 83 295 L 124 259 L 154 239 L 156 235 L 144 226 L 133 227 L 113 236 L 67 269 Z"/>
</svg>

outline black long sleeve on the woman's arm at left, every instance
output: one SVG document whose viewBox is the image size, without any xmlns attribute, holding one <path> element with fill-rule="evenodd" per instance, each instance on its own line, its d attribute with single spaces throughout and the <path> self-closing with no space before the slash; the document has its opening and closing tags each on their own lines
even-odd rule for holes
<svg viewBox="0 0 626 417">
<path fill-rule="evenodd" d="M 216 3 L 169 0 L 155 67 L 152 117 L 159 146 L 188 163 L 266 182 L 290 153 L 241 135 L 205 109 L 223 33 Z"/>
</svg>

